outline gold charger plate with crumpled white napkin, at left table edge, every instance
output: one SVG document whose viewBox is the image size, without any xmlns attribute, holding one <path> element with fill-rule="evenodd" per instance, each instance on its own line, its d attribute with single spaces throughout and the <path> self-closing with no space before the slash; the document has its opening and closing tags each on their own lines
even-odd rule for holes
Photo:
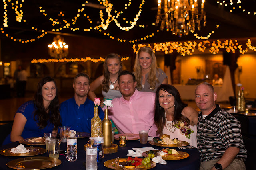
<svg viewBox="0 0 256 170">
<path fill-rule="evenodd" d="M 47 151 L 44 148 L 32 147 L 32 146 L 25 147 L 25 148 L 29 149 L 30 151 L 28 153 L 12 153 L 11 152 L 12 148 L 8 148 L 8 149 L 1 150 L 0 154 L 4 156 L 35 156 L 35 155 L 43 154 Z"/>
</svg>

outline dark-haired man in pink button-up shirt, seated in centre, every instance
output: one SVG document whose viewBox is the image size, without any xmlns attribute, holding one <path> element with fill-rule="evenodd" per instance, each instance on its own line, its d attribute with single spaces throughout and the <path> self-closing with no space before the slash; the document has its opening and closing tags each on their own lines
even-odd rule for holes
<svg viewBox="0 0 256 170">
<path fill-rule="evenodd" d="M 119 133 L 135 133 L 148 130 L 148 136 L 159 137 L 154 124 L 155 93 L 139 92 L 136 87 L 134 74 L 122 71 L 118 76 L 118 87 L 121 98 L 112 100 L 113 107 L 108 107 L 109 118 L 116 125 Z M 104 109 L 107 107 L 104 106 Z M 103 109 L 103 110 L 104 110 Z"/>
</svg>

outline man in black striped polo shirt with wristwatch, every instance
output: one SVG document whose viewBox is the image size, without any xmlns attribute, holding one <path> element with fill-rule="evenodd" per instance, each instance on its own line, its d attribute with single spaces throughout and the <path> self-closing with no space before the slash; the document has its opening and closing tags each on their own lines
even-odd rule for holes
<svg viewBox="0 0 256 170">
<path fill-rule="evenodd" d="M 195 102 L 201 110 L 197 123 L 197 149 L 200 170 L 245 170 L 247 151 L 244 147 L 240 122 L 215 104 L 217 94 L 211 84 L 196 86 Z"/>
</svg>

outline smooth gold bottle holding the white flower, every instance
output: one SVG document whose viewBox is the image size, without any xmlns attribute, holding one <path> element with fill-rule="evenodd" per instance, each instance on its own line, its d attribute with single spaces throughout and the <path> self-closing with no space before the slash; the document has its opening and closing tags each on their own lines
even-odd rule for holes
<svg viewBox="0 0 256 170">
<path fill-rule="evenodd" d="M 111 137 L 112 137 L 112 124 L 110 119 L 108 119 L 108 109 L 105 109 L 105 118 L 102 121 L 102 133 L 104 137 L 104 147 L 111 146 Z"/>
</svg>

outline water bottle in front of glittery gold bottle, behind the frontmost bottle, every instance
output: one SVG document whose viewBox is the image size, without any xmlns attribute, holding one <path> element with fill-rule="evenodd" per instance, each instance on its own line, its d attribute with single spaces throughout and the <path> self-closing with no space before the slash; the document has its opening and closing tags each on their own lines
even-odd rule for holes
<svg viewBox="0 0 256 170">
<path fill-rule="evenodd" d="M 97 162 L 101 162 L 104 156 L 104 138 L 100 128 L 97 128 L 97 136 L 94 137 L 94 146 L 97 147 Z"/>
</svg>

